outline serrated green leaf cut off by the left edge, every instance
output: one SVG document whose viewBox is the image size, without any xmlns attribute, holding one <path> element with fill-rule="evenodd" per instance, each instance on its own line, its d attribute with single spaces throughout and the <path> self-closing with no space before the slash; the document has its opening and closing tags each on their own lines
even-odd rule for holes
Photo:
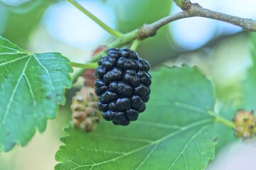
<svg viewBox="0 0 256 170">
<path fill-rule="evenodd" d="M 71 86 L 69 60 L 59 53 L 33 54 L 0 37 L 0 148 L 26 145 L 46 129 Z"/>
</svg>

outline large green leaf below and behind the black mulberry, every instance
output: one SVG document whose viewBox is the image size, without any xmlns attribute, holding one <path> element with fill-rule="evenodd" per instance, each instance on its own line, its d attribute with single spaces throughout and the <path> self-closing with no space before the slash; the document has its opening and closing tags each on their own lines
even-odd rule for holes
<svg viewBox="0 0 256 170">
<path fill-rule="evenodd" d="M 205 169 L 214 157 L 213 86 L 196 68 L 152 72 L 151 99 L 127 127 L 66 128 L 55 169 Z"/>
</svg>

